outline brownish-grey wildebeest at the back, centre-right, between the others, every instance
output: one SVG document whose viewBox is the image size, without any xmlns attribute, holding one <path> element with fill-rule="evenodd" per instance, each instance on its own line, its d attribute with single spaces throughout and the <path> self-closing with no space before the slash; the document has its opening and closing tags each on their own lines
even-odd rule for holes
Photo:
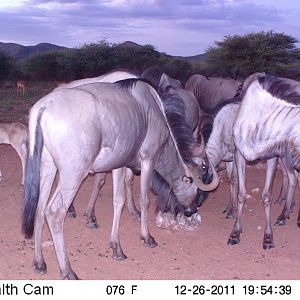
<svg viewBox="0 0 300 300">
<path fill-rule="evenodd" d="M 242 83 L 231 78 L 210 78 L 194 74 L 187 80 L 185 89 L 195 95 L 203 111 L 202 133 L 207 142 L 213 123 L 211 111 L 222 102 L 237 97 Z"/>
</svg>

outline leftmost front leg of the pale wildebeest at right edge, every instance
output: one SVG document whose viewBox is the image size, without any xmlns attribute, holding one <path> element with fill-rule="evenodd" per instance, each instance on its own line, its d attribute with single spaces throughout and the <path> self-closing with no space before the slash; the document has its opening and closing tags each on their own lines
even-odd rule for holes
<svg viewBox="0 0 300 300">
<path fill-rule="evenodd" d="M 228 244 L 230 245 L 235 245 L 240 242 L 240 233 L 242 232 L 241 220 L 242 220 L 243 206 L 246 200 L 245 159 L 242 157 L 242 155 L 238 150 L 236 150 L 235 152 L 235 161 L 237 167 L 239 192 L 238 192 L 238 206 L 237 206 L 236 221 L 228 239 Z"/>
</svg>

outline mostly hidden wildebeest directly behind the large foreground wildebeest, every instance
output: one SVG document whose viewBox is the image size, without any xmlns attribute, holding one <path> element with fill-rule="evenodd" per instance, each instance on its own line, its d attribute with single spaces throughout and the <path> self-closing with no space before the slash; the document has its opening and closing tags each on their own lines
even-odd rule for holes
<svg viewBox="0 0 300 300">
<path fill-rule="evenodd" d="M 157 74 L 156 74 L 157 75 Z M 142 75 L 143 76 L 143 75 Z M 157 76 L 156 76 L 157 77 Z M 117 70 L 113 71 L 111 73 L 94 77 L 94 78 L 87 78 L 82 80 L 73 81 L 69 84 L 64 85 L 63 87 L 69 88 L 69 87 L 76 87 L 80 86 L 86 83 L 92 83 L 92 82 L 115 82 L 120 79 L 128 79 L 128 78 L 137 78 L 137 76 L 134 73 L 123 71 L 123 70 Z M 155 78 L 153 82 L 153 76 L 151 78 L 146 78 L 147 80 L 150 80 L 151 83 L 154 83 L 157 85 L 157 89 L 159 90 L 159 93 L 163 94 L 162 98 L 169 99 L 169 101 L 163 101 L 165 105 L 168 105 L 168 111 L 172 111 L 174 108 L 176 108 L 176 105 L 174 105 L 173 101 L 175 101 L 179 107 L 180 104 L 183 104 L 183 107 L 180 107 L 182 111 L 184 111 L 185 115 L 185 121 L 188 124 L 188 126 L 191 127 L 191 130 L 193 131 L 193 136 L 195 139 L 198 139 L 198 130 L 200 128 L 201 123 L 201 110 L 199 107 L 199 104 L 197 102 L 197 99 L 195 96 L 182 88 L 181 83 L 178 80 L 175 80 L 171 77 L 169 77 L 167 74 L 159 74 L 159 78 Z M 178 100 L 179 99 L 179 100 Z M 201 149 L 199 149 L 199 157 L 201 153 L 204 151 L 204 143 L 203 141 L 200 141 Z M 195 158 L 196 160 L 196 158 Z M 127 199 L 127 208 L 130 215 L 133 215 L 137 219 L 140 218 L 140 212 L 136 209 L 136 206 L 134 204 L 133 200 L 133 173 L 130 169 L 126 170 L 126 199 Z M 87 226 L 91 228 L 97 228 L 97 218 L 95 215 L 95 204 L 97 200 L 97 195 L 99 193 L 99 190 L 105 183 L 105 177 L 106 173 L 97 173 L 95 174 L 95 184 L 93 188 L 93 192 L 90 198 L 90 201 L 88 203 L 85 215 L 87 217 Z M 155 178 L 153 177 L 153 181 L 151 181 L 152 191 L 155 194 L 158 194 L 158 190 L 155 187 Z M 172 187 L 172 185 L 171 185 Z M 160 195 L 162 196 L 162 195 Z M 194 201 L 194 205 L 200 206 L 201 203 L 206 198 L 207 193 L 203 191 L 198 191 L 198 200 Z M 185 215 L 190 216 L 193 212 L 195 212 L 196 207 L 193 207 L 190 211 L 185 211 Z M 74 215 L 75 209 L 73 205 L 69 207 L 68 213 L 71 213 L 71 216 Z"/>
</svg>

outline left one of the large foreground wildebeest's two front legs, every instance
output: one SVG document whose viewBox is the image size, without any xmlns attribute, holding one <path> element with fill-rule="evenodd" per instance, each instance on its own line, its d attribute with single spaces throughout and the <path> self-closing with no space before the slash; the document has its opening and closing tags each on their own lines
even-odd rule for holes
<svg viewBox="0 0 300 300">
<path fill-rule="evenodd" d="M 125 172 L 125 167 L 112 171 L 114 218 L 110 236 L 110 247 L 113 250 L 113 258 L 117 260 L 127 258 L 121 248 L 119 237 L 120 219 L 125 203 Z"/>
</svg>

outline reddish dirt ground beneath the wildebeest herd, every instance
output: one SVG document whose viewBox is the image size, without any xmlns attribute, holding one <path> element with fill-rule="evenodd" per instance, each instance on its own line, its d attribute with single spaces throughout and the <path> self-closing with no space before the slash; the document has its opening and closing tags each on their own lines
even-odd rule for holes
<svg viewBox="0 0 300 300">
<path fill-rule="evenodd" d="M 44 227 L 45 275 L 34 274 L 33 242 L 21 234 L 23 187 L 21 163 L 13 148 L 0 145 L 0 279 L 59 279 L 59 269 L 47 225 Z M 145 248 L 139 237 L 139 223 L 123 211 L 121 244 L 128 259 L 111 258 L 108 241 L 112 224 L 112 187 L 108 177 L 96 207 L 100 228 L 85 226 L 84 209 L 89 199 L 93 178 L 82 184 L 75 199 L 76 219 L 65 222 L 65 241 L 74 271 L 82 279 L 300 279 L 300 229 L 296 226 L 299 201 L 287 225 L 273 227 L 275 248 L 263 250 L 264 211 L 260 193 L 264 169 L 247 168 L 248 193 L 239 245 L 228 246 L 233 220 L 222 214 L 229 198 L 224 180 L 200 208 L 202 224 L 194 232 L 172 232 L 157 228 L 153 206 L 150 207 L 150 231 L 158 242 Z M 278 195 L 280 171 L 274 184 Z M 259 187 L 259 192 L 251 190 Z M 135 195 L 138 199 L 138 185 Z M 299 191 L 296 199 L 299 198 Z M 152 202 L 154 202 L 152 197 Z M 282 206 L 272 206 L 272 223 Z"/>
</svg>

